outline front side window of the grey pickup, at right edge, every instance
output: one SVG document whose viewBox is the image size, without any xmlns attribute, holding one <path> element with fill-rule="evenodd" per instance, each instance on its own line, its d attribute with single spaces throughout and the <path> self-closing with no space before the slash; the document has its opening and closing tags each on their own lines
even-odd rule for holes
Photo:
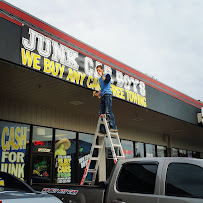
<svg viewBox="0 0 203 203">
<path fill-rule="evenodd" d="M 168 167 L 165 195 L 203 198 L 203 168 L 184 163 Z"/>
</svg>

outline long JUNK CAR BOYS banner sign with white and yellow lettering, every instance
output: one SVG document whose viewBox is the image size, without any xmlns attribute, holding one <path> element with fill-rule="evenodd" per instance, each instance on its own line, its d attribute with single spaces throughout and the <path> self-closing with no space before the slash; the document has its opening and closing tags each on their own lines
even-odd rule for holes
<svg viewBox="0 0 203 203">
<path fill-rule="evenodd" d="M 96 66 L 101 64 L 35 30 L 22 27 L 21 64 L 58 79 L 100 90 Z M 111 75 L 113 96 L 147 106 L 145 83 L 104 65 Z"/>
</svg>

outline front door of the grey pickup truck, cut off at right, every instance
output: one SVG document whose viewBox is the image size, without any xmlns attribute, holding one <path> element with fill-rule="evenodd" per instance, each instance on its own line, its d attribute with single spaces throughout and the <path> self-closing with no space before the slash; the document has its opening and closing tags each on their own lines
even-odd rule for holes
<svg viewBox="0 0 203 203">
<path fill-rule="evenodd" d="M 166 160 L 160 203 L 203 202 L 203 160 Z"/>
</svg>

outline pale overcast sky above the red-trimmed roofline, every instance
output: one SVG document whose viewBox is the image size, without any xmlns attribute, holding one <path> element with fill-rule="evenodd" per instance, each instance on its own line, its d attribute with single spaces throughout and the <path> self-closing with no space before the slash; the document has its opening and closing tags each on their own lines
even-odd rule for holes
<svg viewBox="0 0 203 203">
<path fill-rule="evenodd" d="M 7 0 L 203 101 L 203 0 Z"/>
</svg>

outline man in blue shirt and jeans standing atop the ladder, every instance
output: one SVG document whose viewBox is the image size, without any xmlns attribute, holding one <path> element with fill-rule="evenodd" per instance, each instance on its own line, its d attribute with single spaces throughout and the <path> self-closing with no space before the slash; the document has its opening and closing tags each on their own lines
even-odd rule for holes
<svg viewBox="0 0 203 203">
<path fill-rule="evenodd" d="M 109 74 L 104 74 L 104 68 L 102 65 L 97 66 L 97 73 L 101 76 L 99 79 L 99 84 L 101 90 L 95 93 L 98 98 L 101 96 L 101 103 L 99 114 L 107 114 L 109 116 L 109 126 L 110 132 L 118 132 L 113 112 L 111 110 L 112 106 L 112 91 L 111 91 L 111 76 Z M 105 133 L 105 127 L 102 124 L 100 126 L 101 133 Z"/>
</svg>

